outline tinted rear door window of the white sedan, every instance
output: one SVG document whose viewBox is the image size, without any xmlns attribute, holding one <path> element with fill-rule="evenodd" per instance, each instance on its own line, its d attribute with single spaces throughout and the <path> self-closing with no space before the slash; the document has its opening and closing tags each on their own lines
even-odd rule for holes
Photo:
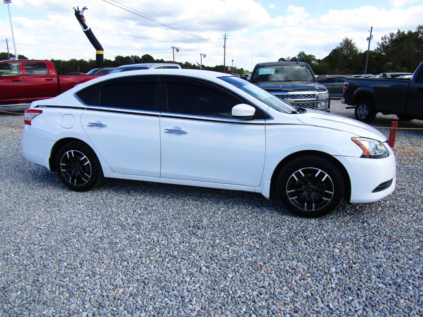
<svg viewBox="0 0 423 317">
<path fill-rule="evenodd" d="M 99 106 L 154 111 L 155 87 L 155 82 L 106 83 Z"/>
</svg>

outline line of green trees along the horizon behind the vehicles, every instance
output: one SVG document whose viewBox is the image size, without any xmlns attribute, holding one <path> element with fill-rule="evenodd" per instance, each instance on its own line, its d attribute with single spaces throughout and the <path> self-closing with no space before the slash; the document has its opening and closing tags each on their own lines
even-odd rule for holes
<svg viewBox="0 0 423 317">
<path fill-rule="evenodd" d="M 13 54 L 10 54 L 14 57 Z M 28 59 L 24 55 L 18 55 L 19 59 Z M 308 63 L 315 74 L 363 74 L 367 51 L 361 51 L 350 39 L 344 38 L 324 58 L 317 59 L 313 54 L 299 52 L 294 57 L 281 57 L 279 61 L 301 61 Z M 7 59 L 7 53 L 0 53 L 0 60 Z M 367 74 L 379 74 L 381 72 L 408 71 L 413 72 L 423 61 L 423 25 L 419 25 L 415 31 L 401 31 L 382 36 L 377 42 L 377 47 L 369 52 Z M 58 74 L 71 72 L 86 73 L 96 67 L 95 60 L 52 60 Z M 143 56 L 116 56 L 114 60 L 104 59 L 104 67 L 118 67 L 136 63 L 173 63 L 172 60 L 154 59 L 151 55 Z M 199 65 L 189 62 L 178 63 L 181 68 L 198 69 Z M 223 65 L 204 66 L 207 71 L 223 72 Z M 228 72 L 228 71 L 226 71 Z M 243 68 L 233 67 L 233 74 L 245 74 L 250 71 Z"/>
</svg>

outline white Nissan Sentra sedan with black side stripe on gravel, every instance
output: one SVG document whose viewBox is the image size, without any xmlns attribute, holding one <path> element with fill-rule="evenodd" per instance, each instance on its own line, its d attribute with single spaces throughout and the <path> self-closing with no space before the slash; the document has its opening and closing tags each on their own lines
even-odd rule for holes
<svg viewBox="0 0 423 317">
<path fill-rule="evenodd" d="M 211 71 L 128 71 L 33 102 L 22 150 L 86 191 L 104 177 L 275 192 L 308 217 L 393 192 L 386 137 L 349 118 L 295 108 Z"/>
</svg>

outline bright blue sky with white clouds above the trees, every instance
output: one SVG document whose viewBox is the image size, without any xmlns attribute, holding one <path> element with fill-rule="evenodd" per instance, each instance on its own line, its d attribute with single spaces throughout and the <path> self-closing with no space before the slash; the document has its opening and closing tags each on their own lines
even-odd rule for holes
<svg viewBox="0 0 423 317">
<path fill-rule="evenodd" d="M 74 16 L 78 5 L 88 8 L 85 20 L 104 58 L 150 54 L 172 60 L 176 46 L 178 62 L 200 63 L 203 53 L 203 65 L 222 65 L 226 34 L 226 65 L 245 70 L 300 51 L 323 58 L 345 37 L 365 51 L 370 27 L 375 49 L 382 36 L 423 24 L 423 0 L 12 0 L 0 3 L 0 52 L 7 52 L 8 38 L 14 53 L 9 6 L 18 54 L 95 60 Z"/>
</svg>

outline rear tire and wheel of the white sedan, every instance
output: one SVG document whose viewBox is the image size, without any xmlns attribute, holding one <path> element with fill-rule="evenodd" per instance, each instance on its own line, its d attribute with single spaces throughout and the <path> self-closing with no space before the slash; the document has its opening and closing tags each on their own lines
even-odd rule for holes
<svg viewBox="0 0 423 317">
<path fill-rule="evenodd" d="M 82 142 L 70 142 L 60 148 L 56 170 L 63 184 L 74 191 L 88 191 L 104 178 L 96 154 Z"/>
</svg>

